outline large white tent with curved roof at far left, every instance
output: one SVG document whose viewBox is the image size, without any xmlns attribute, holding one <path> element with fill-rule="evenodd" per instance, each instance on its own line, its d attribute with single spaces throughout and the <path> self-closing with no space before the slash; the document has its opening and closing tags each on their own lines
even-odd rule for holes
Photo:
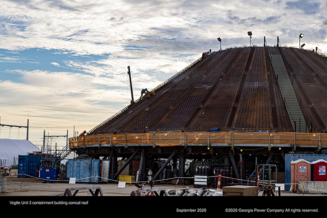
<svg viewBox="0 0 327 218">
<path fill-rule="evenodd" d="M 29 140 L 0 138 L 0 165 L 11 167 L 14 165 L 14 158 L 28 153 L 41 152 Z M 18 164 L 18 163 L 17 163 Z"/>
</svg>

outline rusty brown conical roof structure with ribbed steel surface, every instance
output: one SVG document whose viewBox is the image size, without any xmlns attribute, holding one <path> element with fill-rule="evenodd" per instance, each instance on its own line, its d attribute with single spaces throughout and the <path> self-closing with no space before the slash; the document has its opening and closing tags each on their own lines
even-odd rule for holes
<svg viewBox="0 0 327 218">
<path fill-rule="evenodd" d="M 203 55 L 88 132 L 326 132 L 327 58 L 291 47 Z"/>
</svg>

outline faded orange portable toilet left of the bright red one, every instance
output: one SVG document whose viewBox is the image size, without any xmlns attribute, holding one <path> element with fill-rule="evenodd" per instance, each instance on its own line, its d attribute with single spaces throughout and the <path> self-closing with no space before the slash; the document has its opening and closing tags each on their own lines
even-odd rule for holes
<svg viewBox="0 0 327 218">
<path fill-rule="evenodd" d="M 294 192 L 297 191 L 298 181 L 311 181 L 311 163 L 304 159 L 291 162 L 291 185 Z"/>
</svg>

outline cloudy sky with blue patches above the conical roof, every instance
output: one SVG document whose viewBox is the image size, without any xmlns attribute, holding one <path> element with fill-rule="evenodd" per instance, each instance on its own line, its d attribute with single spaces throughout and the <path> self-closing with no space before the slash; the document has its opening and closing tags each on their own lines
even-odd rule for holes
<svg viewBox="0 0 327 218">
<path fill-rule="evenodd" d="M 1 123 L 29 139 L 91 130 L 141 89 L 155 88 L 211 49 L 280 44 L 327 53 L 324 0 L 2 0 Z M 26 128 L 1 127 L 25 139 Z M 63 138 L 64 139 L 64 138 Z M 59 139 L 58 139 L 59 140 Z M 65 139 L 63 140 L 65 142 Z M 53 141 L 54 142 L 54 141 Z M 61 143 L 58 142 L 60 146 Z"/>
</svg>

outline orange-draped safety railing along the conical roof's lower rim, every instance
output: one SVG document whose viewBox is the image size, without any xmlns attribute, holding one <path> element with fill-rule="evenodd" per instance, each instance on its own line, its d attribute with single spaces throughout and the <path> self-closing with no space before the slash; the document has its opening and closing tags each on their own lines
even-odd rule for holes
<svg viewBox="0 0 327 218">
<path fill-rule="evenodd" d="M 69 148 L 102 145 L 127 146 L 147 144 L 159 147 L 182 144 L 210 144 L 230 146 L 233 144 L 268 144 L 270 146 L 301 145 L 327 146 L 326 133 L 297 132 L 148 132 L 84 135 L 69 138 Z"/>
</svg>

